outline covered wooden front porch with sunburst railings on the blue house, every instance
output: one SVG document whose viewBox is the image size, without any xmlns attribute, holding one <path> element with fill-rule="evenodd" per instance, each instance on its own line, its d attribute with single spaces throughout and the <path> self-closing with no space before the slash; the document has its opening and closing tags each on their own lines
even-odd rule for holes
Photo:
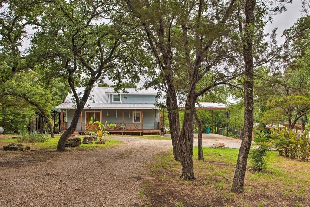
<svg viewBox="0 0 310 207">
<path fill-rule="evenodd" d="M 75 109 L 61 109 L 62 131 L 70 126 L 74 112 Z M 160 111 L 158 109 L 83 109 L 75 134 L 83 134 L 85 131 L 98 128 L 98 124 L 89 123 L 91 117 L 93 122 L 114 123 L 115 127 L 107 127 L 107 131 L 113 134 L 160 135 Z"/>
</svg>

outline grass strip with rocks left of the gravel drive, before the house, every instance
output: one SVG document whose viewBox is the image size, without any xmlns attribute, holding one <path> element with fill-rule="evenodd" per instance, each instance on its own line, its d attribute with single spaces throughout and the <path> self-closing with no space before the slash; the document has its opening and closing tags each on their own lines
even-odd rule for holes
<svg viewBox="0 0 310 207">
<path fill-rule="evenodd" d="M 82 136 L 77 136 L 79 138 L 81 138 L 81 141 L 83 140 Z M 48 142 L 37 142 L 37 143 L 22 143 L 20 142 L 20 144 L 23 144 L 24 147 L 25 146 L 30 146 L 31 149 L 47 149 L 47 150 L 55 150 L 57 147 L 57 143 L 59 140 L 60 136 L 55 136 L 55 138 L 50 139 L 50 141 Z M 93 145 L 85 145 L 85 144 L 81 144 L 79 146 L 79 148 L 81 149 L 102 149 L 102 148 L 108 148 L 108 147 L 114 147 L 114 146 L 119 146 L 119 145 L 124 145 L 125 142 L 121 141 L 121 140 L 117 140 L 117 139 L 110 139 L 108 138 L 107 140 L 109 140 L 108 142 L 106 142 L 105 144 L 94 144 Z M 2 148 L 4 145 L 9 145 L 11 143 L 19 143 L 17 139 L 10 139 L 10 138 L 4 138 L 4 139 L 0 139 L 0 147 Z"/>
</svg>

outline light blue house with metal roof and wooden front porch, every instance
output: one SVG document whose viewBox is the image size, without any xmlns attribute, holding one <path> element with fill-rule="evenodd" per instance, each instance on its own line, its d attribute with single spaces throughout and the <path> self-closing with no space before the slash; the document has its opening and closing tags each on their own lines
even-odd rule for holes
<svg viewBox="0 0 310 207">
<path fill-rule="evenodd" d="M 84 88 L 77 88 L 78 94 L 83 94 Z M 88 122 L 115 123 L 109 127 L 110 133 L 138 133 L 140 135 L 160 135 L 160 111 L 155 106 L 155 90 L 139 90 L 125 88 L 128 93 L 115 93 L 113 88 L 94 88 L 80 115 L 76 133 L 89 131 L 97 126 Z M 64 103 L 56 108 L 61 110 L 61 130 L 70 126 L 75 107 L 73 95 L 69 94 Z M 63 116 L 62 114 L 65 115 Z"/>
</svg>

